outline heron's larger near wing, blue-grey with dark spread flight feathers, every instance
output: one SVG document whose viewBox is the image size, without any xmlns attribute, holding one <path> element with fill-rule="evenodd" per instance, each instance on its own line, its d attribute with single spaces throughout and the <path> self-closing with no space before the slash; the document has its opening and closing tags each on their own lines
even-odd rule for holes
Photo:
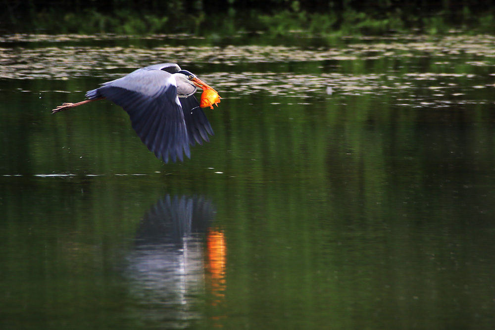
<svg viewBox="0 0 495 330">
<path fill-rule="evenodd" d="M 189 138 L 175 78 L 161 70 L 138 70 L 86 93 L 105 97 L 129 114 L 132 127 L 156 157 L 183 161 L 190 157 Z"/>
</svg>

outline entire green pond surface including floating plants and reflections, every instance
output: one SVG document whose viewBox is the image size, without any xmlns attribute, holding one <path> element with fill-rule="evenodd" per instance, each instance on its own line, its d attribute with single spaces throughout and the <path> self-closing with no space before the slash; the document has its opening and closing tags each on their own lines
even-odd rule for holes
<svg viewBox="0 0 495 330">
<path fill-rule="evenodd" d="M 490 37 L 91 42 L 0 48 L 1 329 L 493 329 Z M 50 114 L 164 61 L 223 97 L 184 163 Z"/>
</svg>

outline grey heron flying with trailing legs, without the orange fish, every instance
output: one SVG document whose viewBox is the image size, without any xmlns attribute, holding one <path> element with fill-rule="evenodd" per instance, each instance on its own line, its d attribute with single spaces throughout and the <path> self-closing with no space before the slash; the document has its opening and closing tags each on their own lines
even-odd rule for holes
<svg viewBox="0 0 495 330">
<path fill-rule="evenodd" d="M 183 152 L 191 157 L 189 145 L 213 135 L 194 96 L 196 87 L 211 87 L 175 63 L 150 65 L 101 85 L 88 91 L 86 100 L 63 103 L 51 113 L 107 98 L 127 111 L 141 141 L 165 163 L 169 156 L 183 161 Z"/>
</svg>

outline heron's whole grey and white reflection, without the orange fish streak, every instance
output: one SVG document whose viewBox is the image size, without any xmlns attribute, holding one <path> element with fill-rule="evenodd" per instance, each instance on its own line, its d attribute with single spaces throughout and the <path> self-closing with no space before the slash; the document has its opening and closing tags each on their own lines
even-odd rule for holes
<svg viewBox="0 0 495 330">
<path fill-rule="evenodd" d="M 214 207 L 203 197 L 165 196 L 144 216 L 126 276 L 145 322 L 183 328 L 198 319 L 205 290 L 204 234 Z"/>
</svg>

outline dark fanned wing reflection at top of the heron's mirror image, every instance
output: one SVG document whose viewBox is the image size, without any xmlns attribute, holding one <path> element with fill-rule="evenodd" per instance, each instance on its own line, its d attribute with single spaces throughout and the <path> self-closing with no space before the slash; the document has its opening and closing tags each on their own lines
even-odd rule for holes
<svg viewBox="0 0 495 330">
<path fill-rule="evenodd" d="M 136 233 L 136 244 L 182 245 L 187 236 L 204 233 L 213 216 L 214 207 L 204 197 L 166 195 L 144 216 Z"/>
</svg>

